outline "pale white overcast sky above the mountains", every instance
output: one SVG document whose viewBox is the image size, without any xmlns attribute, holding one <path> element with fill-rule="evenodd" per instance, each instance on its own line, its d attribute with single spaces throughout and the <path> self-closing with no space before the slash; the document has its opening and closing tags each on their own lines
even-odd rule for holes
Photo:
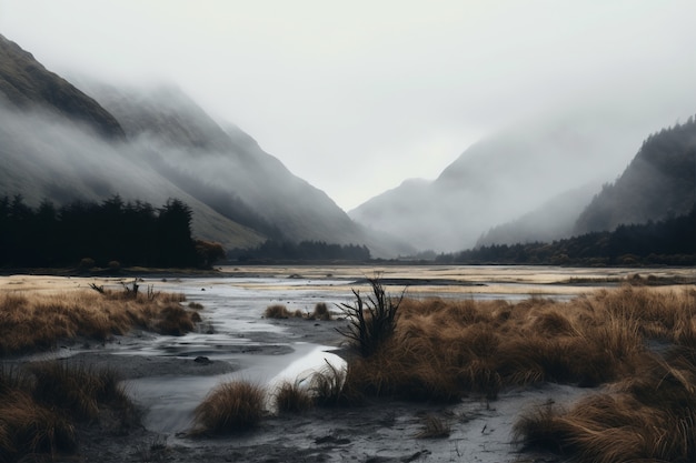
<svg viewBox="0 0 696 463">
<path fill-rule="evenodd" d="M 50 70 L 175 83 L 345 210 L 519 120 L 696 113 L 694 18 L 693 0 L 0 0 L 0 33 Z"/>
</svg>

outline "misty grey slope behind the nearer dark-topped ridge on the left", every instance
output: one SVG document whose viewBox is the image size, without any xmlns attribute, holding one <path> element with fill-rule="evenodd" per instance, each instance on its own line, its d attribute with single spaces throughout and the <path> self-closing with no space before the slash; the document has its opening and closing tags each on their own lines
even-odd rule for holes
<svg viewBox="0 0 696 463">
<path fill-rule="evenodd" d="M 238 128 L 223 130 L 180 90 L 87 85 L 129 137 L 152 148 L 155 169 L 222 214 L 290 241 L 367 244 L 379 255 L 409 249 L 357 225 L 324 191 Z"/>
</svg>

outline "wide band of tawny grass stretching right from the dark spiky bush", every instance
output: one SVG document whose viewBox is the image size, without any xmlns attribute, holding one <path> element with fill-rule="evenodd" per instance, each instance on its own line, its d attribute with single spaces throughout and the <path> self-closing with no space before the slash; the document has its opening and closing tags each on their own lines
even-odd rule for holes
<svg viewBox="0 0 696 463">
<path fill-rule="evenodd" d="M 504 387 L 580 386 L 630 378 L 648 340 L 696 345 L 696 291 L 625 286 L 570 302 L 404 300 L 394 334 L 350 360 L 346 387 L 367 395 L 456 401 Z"/>
</svg>

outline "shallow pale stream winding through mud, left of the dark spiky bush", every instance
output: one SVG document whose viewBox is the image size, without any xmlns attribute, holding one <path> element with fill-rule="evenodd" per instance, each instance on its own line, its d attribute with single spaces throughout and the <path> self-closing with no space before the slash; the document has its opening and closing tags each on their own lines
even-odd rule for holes
<svg viewBox="0 0 696 463">
<path fill-rule="evenodd" d="M 217 384 L 226 381 L 250 381 L 272 391 L 282 381 L 295 382 L 311 371 L 324 369 L 327 361 L 338 368 L 345 366 L 340 358 L 327 352 L 335 349 L 331 346 L 300 342 L 261 345 L 259 341 L 248 339 L 255 333 L 281 334 L 285 330 L 261 318 L 268 305 L 282 303 L 291 311 L 299 309 L 311 312 L 317 302 L 344 302 L 345 293 L 350 293 L 347 289 L 336 294 L 302 290 L 308 284 L 306 280 L 291 281 L 290 286 L 295 289 L 291 291 L 272 289 L 279 283 L 285 281 L 275 278 L 187 279 L 142 283 L 151 284 L 155 291 L 181 292 L 187 301 L 202 304 L 205 309 L 200 313 L 203 321 L 199 324 L 202 331 L 183 336 L 153 336 L 141 342 L 136 340 L 119 348 L 115 354 L 186 359 L 207 356 L 213 362 L 229 362 L 239 366 L 238 371 L 223 375 L 167 375 L 127 381 L 127 392 L 147 410 L 143 417 L 147 429 L 172 434 L 190 430 L 196 406 Z M 269 345 L 279 353 L 257 353 L 261 351 L 260 348 Z"/>
</svg>

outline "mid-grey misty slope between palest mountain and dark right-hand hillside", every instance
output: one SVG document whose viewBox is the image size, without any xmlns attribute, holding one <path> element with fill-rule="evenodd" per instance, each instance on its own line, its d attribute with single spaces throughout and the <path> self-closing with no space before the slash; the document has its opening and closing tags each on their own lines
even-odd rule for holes
<svg viewBox="0 0 696 463">
<path fill-rule="evenodd" d="M 476 241 L 476 248 L 491 244 L 548 243 L 569 238 L 577 218 L 600 188 L 599 182 L 590 182 L 558 194 L 540 208 L 488 230 Z"/>
</svg>

